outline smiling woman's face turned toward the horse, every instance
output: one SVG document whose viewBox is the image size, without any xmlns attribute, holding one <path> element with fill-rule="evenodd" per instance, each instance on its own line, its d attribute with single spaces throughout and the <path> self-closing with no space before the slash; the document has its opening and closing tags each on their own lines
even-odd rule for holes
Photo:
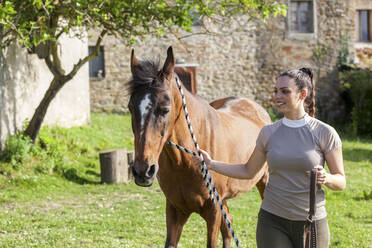
<svg viewBox="0 0 372 248">
<path fill-rule="evenodd" d="M 287 76 L 279 77 L 274 88 L 274 103 L 277 110 L 283 114 L 301 110 L 306 97 L 306 90 L 303 91 L 298 90 L 294 79 Z"/>
</svg>

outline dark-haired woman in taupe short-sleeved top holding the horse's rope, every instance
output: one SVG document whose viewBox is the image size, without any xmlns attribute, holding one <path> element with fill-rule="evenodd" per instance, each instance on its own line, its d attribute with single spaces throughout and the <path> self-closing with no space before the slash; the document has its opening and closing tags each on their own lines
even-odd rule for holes
<svg viewBox="0 0 372 248">
<path fill-rule="evenodd" d="M 258 215 L 258 248 L 303 247 L 303 233 L 309 211 L 310 171 L 317 168 L 317 184 L 331 190 L 346 186 L 341 140 L 331 126 L 314 118 L 314 83 L 307 68 L 280 75 L 274 102 L 284 118 L 262 128 L 256 147 L 245 164 L 212 160 L 203 151 L 209 169 L 229 177 L 250 179 L 269 166 L 269 182 Z M 200 163 L 200 158 L 195 158 Z M 325 171 L 327 162 L 329 172 Z M 325 196 L 316 192 L 317 247 L 329 246 Z"/>
</svg>

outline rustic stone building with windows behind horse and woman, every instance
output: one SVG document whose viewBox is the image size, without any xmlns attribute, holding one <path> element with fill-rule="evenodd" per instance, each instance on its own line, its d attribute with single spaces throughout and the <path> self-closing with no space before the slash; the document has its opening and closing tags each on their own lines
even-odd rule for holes
<svg viewBox="0 0 372 248">
<path fill-rule="evenodd" d="M 176 59 L 198 64 L 197 93 L 211 101 L 243 96 L 272 106 L 273 82 L 290 68 L 311 67 L 318 85 L 318 115 L 333 120 L 342 112 L 337 95 L 337 63 L 347 59 L 371 67 L 372 1 L 282 0 L 287 17 L 249 21 L 203 20 L 193 33 L 148 37 L 133 46 L 139 58 L 159 59 L 172 45 Z M 220 24 L 222 21 L 223 24 Z M 208 35 L 205 33 L 205 28 Z M 198 35 L 199 34 L 199 35 Z M 94 34 L 92 34 L 94 36 Z M 94 44 L 94 39 L 89 41 Z M 125 42 L 107 37 L 102 56 L 90 64 L 91 109 L 127 112 L 125 82 L 130 51 Z M 345 57 L 344 56 L 344 57 Z M 341 105 L 340 105 L 341 104 Z M 332 107 L 333 106 L 333 107 Z"/>
</svg>

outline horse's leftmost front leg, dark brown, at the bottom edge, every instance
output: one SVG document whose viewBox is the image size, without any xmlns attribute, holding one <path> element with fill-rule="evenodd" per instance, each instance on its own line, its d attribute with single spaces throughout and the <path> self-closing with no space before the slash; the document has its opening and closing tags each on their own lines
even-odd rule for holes
<svg viewBox="0 0 372 248">
<path fill-rule="evenodd" d="M 177 210 L 168 200 L 166 203 L 167 215 L 167 240 L 165 248 L 176 248 L 183 226 L 185 225 L 190 214 L 184 214 Z"/>
</svg>

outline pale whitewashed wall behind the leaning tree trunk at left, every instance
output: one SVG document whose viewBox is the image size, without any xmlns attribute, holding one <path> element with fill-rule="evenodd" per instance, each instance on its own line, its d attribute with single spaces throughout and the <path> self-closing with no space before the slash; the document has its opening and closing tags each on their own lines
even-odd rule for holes
<svg viewBox="0 0 372 248">
<path fill-rule="evenodd" d="M 87 38 L 83 40 L 61 37 L 61 61 L 66 71 L 72 63 L 86 56 Z M 12 46 L 0 54 L 0 148 L 8 135 L 22 129 L 31 119 L 52 74 L 44 60 L 26 49 Z M 52 101 L 43 124 L 70 127 L 82 125 L 90 119 L 89 73 L 85 65 Z"/>
</svg>

